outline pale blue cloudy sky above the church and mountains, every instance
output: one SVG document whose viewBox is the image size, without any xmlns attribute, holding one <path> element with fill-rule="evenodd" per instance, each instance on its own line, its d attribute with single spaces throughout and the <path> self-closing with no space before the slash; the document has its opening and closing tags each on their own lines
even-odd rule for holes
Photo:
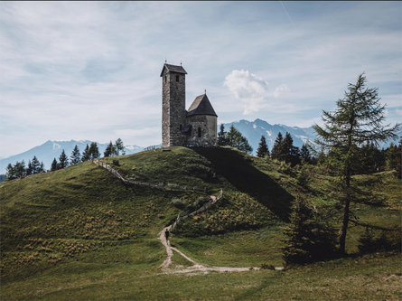
<svg viewBox="0 0 402 301">
<path fill-rule="evenodd" d="M 0 157 L 160 144 L 165 60 L 219 123 L 320 124 L 362 72 L 402 120 L 402 2 L 1 2 Z"/>
</svg>

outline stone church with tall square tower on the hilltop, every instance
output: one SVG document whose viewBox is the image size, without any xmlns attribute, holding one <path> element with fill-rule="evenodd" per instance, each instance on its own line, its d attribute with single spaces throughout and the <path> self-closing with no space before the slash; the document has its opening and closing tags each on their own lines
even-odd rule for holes
<svg viewBox="0 0 402 301">
<path fill-rule="evenodd" d="M 207 94 L 185 109 L 186 74 L 182 66 L 162 69 L 162 146 L 216 146 L 218 116 Z"/>
</svg>

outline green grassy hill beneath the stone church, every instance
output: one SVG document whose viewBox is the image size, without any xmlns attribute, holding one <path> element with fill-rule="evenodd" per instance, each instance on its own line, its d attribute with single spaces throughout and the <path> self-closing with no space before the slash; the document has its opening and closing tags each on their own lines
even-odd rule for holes
<svg viewBox="0 0 402 301">
<path fill-rule="evenodd" d="M 210 265 L 281 265 L 281 229 L 295 195 L 302 193 L 320 210 L 337 197 L 333 179 L 315 169 L 309 171 L 312 181 L 301 187 L 297 172 L 229 148 L 173 147 L 118 160 L 116 169 L 126 178 L 205 187 L 210 194 L 223 189 L 219 202 L 184 220 L 172 238 L 185 254 Z M 354 208 L 360 224 L 400 228 L 400 181 L 392 173 L 354 181 L 376 196 L 371 201 L 376 207 L 361 202 Z M 366 296 L 362 283 L 373 298 L 400 297 L 399 255 L 358 256 L 363 226 L 351 227 L 347 259 L 284 272 L 162 274 L 158 267 L 165 250 L 158 232 L 202 198 L 201 193 L 125 185 L 91 162 L 0 183 L 1 297 L 339 299 Z M 332 222 L 339 222 L 336 214 Z M 176 255 L 173 262 L 188 264 Z M 304 283 L 306 277 L 311 285 Z"/>
</svg>

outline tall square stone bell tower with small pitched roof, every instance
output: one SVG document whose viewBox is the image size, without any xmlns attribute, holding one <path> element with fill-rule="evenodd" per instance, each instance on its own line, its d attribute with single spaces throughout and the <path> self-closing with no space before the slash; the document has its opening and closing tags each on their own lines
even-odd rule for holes
<svg viewBox="0 0 402 301">
<path fill-rule="evenodd" d="M 186 124 L 185 75 L 182 66 L 164 64 L 162 77 L 162 146 L 182 146 Z"/>
</svg>

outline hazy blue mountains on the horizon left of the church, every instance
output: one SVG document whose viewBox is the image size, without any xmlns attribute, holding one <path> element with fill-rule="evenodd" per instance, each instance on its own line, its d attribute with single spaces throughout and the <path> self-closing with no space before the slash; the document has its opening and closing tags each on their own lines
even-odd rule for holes
<svg viewBox="0 0 402 301">
<path fill-rule="evenodd" d="M 35 146 L 21 154 L 12 155 L 7 158 L 1 159 L 0 160 L 0 174 L 5 173 L 5 167 L 10 163 L 12 165 L 14 165 L 15 162 L 23 160 L 25 162 L 25 165 L 27 165 L 28 160 L 33 159 L 33 155 L 36 155 L 38 160 L 40 162 L 43 162 L 45 169 L 50 169 L 53 158 L 56 158 L 59 161 L 59 156 L 61 155 L 61 152 L 63 149 L 64 149 L 64 152 L 66 153 L 66 155 L 70 157 L 74 146 L 78 146 L 79 152 L 82 154 L 85 147 L 87 145 L 90 145 L 91 142 L 92 141 L 89 141 L 89 140 L 79 140 L 79 141 L 76 141 L 76 140 L 70 140 L 70 141 L 48 140 L 45 143 L 43 143 L 41 146 Z M 108 143 L 98 143 L 98 149 L 99 149 L 99 153 L 101 155 L 103 155 L 107 146 L 108 146 Z M 143 149 L 144 148 L 141 146 L 125 146 L 124 150 L 126 152 L 126 155 L 129 155 L 129 154 L 141 152 Z"/>
</svg>

